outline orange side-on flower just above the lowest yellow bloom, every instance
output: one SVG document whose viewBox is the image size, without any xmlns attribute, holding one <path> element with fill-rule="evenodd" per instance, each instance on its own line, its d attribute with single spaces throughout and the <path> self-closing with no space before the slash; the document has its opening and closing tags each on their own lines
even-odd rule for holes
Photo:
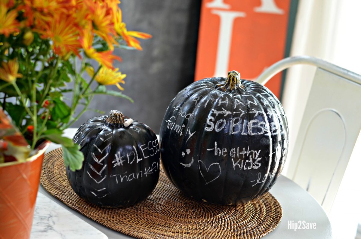
<svg viewBox="0 0 361 239">
<path fill-rule="evenodd" d="M 83 38 L 80 40 L 80 43 L 84 49 L 84 53 L 89 58 L 93 58 L 99 64 L 104 65 L 107 68 L 113 69 L 113 60 L 121 61 L 122 58 L 118 56 L 112 55 L 112 51 L 103 51 L 103 52 L 97 52 L 96 49 L 92 47 L 93 45 L 93 34 L 91 31 L 85 30 Z"/>
</svg>

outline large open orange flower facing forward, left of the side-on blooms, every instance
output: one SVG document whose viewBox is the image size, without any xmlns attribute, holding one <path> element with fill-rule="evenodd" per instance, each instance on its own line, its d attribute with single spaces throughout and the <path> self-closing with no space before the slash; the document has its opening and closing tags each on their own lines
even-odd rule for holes
<svg viewBox="0 0 361 239">
<path fill-rule="evenodd" d="M 74 18 L 55 16 L 45 26 L 45 30 L 34 29 L 34 31 L 39 32 L 43 39 L 50 38 L 52 40 L 52 48 L 58 56 L 69 56 L 69 53 L 73 52 L 81 57 L 78 52 L 81 48 L 79 31 L 77 25 L 74 24 Z"/>
</svg>

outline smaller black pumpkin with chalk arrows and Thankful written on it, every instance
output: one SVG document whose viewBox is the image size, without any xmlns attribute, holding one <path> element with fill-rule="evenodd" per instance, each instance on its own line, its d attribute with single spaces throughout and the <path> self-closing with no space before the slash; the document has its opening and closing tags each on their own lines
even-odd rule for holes
<svg viewBox="0 0 361 239">
<path fill-rule="evenodd" d="M 127 118 L 126 118 L 127 119 Z M 156 134 L 133 121 L 124 126 L 123 114 L 88 119 L 73 140 L 81 146 L 81 170 L 66 168 L 75 193 L 102 207 L 129 206 L 148 197 L 159 178 L 160 152 Z"/>
</svg>

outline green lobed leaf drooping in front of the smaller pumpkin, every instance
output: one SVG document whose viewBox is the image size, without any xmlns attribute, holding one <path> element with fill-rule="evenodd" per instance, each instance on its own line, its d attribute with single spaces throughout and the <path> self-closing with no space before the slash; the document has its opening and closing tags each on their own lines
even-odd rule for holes
<svg viewBox="0 0 361 239">
<path fill-rule="evenodd" d="M 74 144 L 71 147 L 65 147 L 63 145 L 63 158 L 65 166 L 69 165 L 71 171 L 79 170 L 83 166 L 84 155 L 79 151 L 80 146 Z"/>
</svg>

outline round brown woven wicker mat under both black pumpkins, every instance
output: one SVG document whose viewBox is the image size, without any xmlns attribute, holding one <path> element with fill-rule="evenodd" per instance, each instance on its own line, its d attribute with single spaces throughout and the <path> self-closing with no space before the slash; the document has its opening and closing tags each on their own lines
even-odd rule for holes
<svg viewBox="0 0 361 239">
<path fill-rule="evenodd" d="M 45 155 L 40 183 L 68 207 L 135 238 L 261 238 L 282 218 L 282 208 L 270 193 L 243 205 L 212 205 L 185 196 L 162 169 L 155 190 L 141 203 L 127 208 L 97 207 L 71 189 L 61 148 Z"/>
</svg>

